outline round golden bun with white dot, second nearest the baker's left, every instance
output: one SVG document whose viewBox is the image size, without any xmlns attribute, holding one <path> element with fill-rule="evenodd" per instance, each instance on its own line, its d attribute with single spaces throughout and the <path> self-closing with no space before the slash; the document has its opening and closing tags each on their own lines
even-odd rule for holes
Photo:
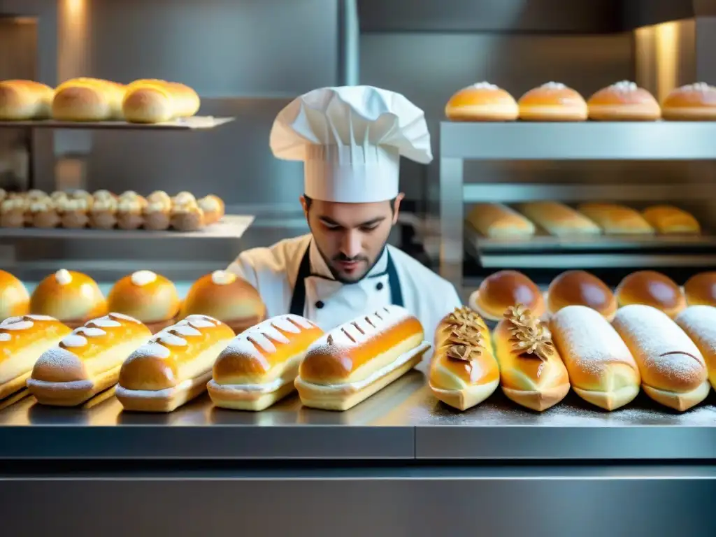
<svg viewBox="0 0 716 537">
<path fill-rule="evenodd" d="M 107 296 L 110 311 L 142 321 L 153 333 L 174 324 L 180 305 L 174 284 L 152 271 L 137 271 L 125 276 Z"/>
</svg>

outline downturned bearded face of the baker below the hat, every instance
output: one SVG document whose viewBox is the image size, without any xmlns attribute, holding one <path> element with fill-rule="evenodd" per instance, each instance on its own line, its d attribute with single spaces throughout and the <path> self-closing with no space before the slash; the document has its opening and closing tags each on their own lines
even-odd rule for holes
<svg viewBox="0 0 716 537">
<path fill-rule="evenodd" d="M 395 202 L 335 203 L 301 198 L 306 220 L 333 277 L 344 284 L 362 279 L 378 260 L 397 221 Z"/>
</svg>

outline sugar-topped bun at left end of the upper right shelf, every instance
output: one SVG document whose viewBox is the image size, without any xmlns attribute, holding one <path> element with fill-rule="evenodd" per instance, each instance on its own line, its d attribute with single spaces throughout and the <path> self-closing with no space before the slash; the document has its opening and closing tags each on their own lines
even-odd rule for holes
<svg viewBox="0 0 716 537">
<path fill-rule="evenodd" d="M 463 87 L 445 105 L 451 121 L 514 121 L 518 113 L 515 98 L 489 82 Z"/>
</svg>

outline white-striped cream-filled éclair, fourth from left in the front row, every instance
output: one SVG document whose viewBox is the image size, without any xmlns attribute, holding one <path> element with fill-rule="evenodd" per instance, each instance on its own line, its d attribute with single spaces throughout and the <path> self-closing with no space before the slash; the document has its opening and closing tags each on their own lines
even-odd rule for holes
<svg viewBox="0 0 716 537">
<path fill-rule="evenodd" d="M 208 391 L 217 407 L 263 410 L 294 391 L 306 350 L 323 330 L 298 315 L 281 315 L 239 334 L 214 363 Z"/>
</svg>

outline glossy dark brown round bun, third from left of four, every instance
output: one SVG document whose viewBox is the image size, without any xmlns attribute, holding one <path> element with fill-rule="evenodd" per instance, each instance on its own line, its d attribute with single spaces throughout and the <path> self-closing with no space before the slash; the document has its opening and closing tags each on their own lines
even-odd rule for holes
<svg viewBox="0 0 716 537">
<path fill-rule="evenodd" d="M 619 307 L 646 304 L 676 316 L 686 307 L 686 299 L 679 286 L 669 276 L 657 271 L 632 272 L 616 287 Z"/>
</svg>

